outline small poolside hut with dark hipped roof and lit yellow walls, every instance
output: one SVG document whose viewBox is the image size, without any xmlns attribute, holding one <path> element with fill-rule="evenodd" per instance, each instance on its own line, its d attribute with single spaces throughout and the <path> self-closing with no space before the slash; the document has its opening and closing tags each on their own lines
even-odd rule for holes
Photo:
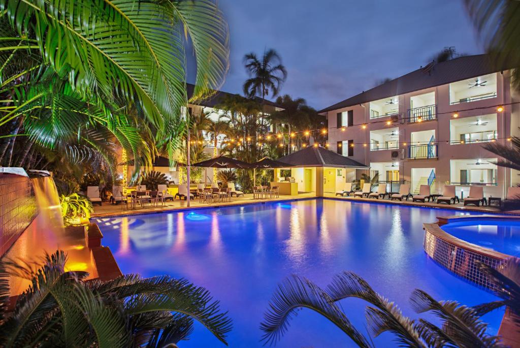
<svg viewBox="0 0 520 348">
<path fill-rule="evenodd" d="M 324 193 L 334 195 L 336 186 L 342 188 L 343 183 L 356 179 L 357 170 L 370 170 L 365 164 L 319 146 L 306 147 L 277 161 L 292 166 L 288 168 L 291 170 L 289 180 L 282 180 L 279 169 L 275 171 L 277 184 L 294 182 L 299 192 L 314 191 L 316 196 L 323 196 Z"/>
</svg>

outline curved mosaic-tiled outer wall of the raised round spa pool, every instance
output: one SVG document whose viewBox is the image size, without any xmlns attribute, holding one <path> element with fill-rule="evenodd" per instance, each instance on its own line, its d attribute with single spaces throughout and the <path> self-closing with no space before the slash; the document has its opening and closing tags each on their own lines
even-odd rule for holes
<svg viewBox="0 0 520 348">
<path fill-rule="evenodd" d="M 424 233 L 424 251 L 441 266 L 449 269 L 458 276 L 470 280 L 477 285 L 489 290 L 495 290 L 495 285 L 488 277 L 481 273 L 475 261 L 480 261 L 493 268 L 499 267 L 503 260 L 460 248 L 447 241 L 437 238 L 427 229 Z"/>
</svg>

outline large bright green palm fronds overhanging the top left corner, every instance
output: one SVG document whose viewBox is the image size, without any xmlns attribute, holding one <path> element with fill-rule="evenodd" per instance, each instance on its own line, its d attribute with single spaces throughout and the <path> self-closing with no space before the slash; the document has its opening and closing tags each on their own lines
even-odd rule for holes
<svg viewBox="0 0 520 348">
<path fill-rule="evenodd" d="M 49 67 L 86 102 L 138 110 L 158 146 L 170 152 L 184 128 L 186 41 L 197 60 L 192 101 L 214 93 L 228 69 L 227 24 L 211 0 L 6 0 L 2 16 L 9 26 L 0 31 L 0 67 L 14 66 L 23 50 L 38 57 L 33 67 L 3 82 L 21 87 L 28 81 L 24 75 Z M 0 125 L 17 117 L 9 111 Z"/>
</svg>

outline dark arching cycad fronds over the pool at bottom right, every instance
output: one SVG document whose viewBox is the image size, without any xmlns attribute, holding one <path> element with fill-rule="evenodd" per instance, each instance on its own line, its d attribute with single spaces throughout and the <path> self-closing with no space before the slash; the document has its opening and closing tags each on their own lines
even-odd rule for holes
<svg viewBox="0 0 520 348">
<path fill-rule="evenodd" d="M 425 291 L 416 289 L 410 297 L 417 313 L 431 312 L 440 326 L 424 318 L 410 319 L 402 315 L 394 302 L 375 292 L 360 276 L 352 272 L 336 275 L 326 289 L 298 276 L 285 279 L 275 292 L 264 315 L 262 340 L 276 344 L 288 330 L 291 318 L 301 308 L 308 308 L 329 319 L 360 347 L 371 347 L 372 342 L 348 320 L 337 304 L 346 298 L 368 302 L 366 318 L 374 337 L 392 332 L 395 342 L 402 347 L 503 347 L 498 336 L 486 333 L 487 324 L 480 319 L 485 313 L 507 306 L 520 317 L 520 261 L 511 259 L 501 269 L 480 264 L 483 272 L 494 279 L 499 301 L 467 307 L 456 301 L 437 301 Z M 520 321 L 518 323 L 520 325 Z"/>
</svg>

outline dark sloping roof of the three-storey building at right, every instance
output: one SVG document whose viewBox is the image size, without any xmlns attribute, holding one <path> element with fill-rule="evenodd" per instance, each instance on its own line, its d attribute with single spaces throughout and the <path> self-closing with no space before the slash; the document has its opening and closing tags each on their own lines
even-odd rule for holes
<svg viewBox="0 0 520 348">
<path fill-rule="evenodd" d="M 331 105 L 318 113 L 348 108 L 369 101 L 393 97 L 421 89 L 475 78 L 500 71 L 491 64 L 489 56 L 475 55 L 454 58 L 440 63 L 430 63 L 397 79 L 383 83 L 354 97 Z"/>
</svg>

